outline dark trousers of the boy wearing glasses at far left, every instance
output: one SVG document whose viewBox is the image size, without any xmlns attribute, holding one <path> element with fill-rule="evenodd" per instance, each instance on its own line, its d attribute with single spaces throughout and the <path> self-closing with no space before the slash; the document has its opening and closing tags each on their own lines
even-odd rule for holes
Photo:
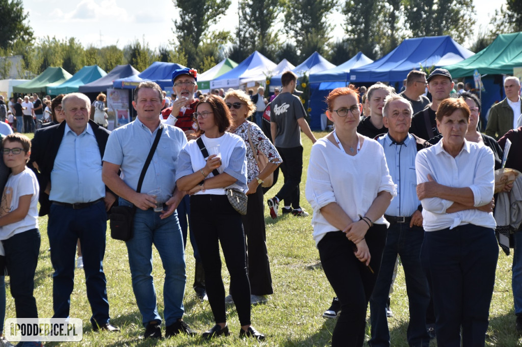
<svg viewBox="0 0 522 347">
<path fill-rule="evenodd" d="M 4 240 L 5 263 L 10 277 L 11 295 L 15 299 L 17 318 L 38 318 L 33 296 L 34 272 L 40 253 L 40 232 L 31 229 Z"/>
</svg>

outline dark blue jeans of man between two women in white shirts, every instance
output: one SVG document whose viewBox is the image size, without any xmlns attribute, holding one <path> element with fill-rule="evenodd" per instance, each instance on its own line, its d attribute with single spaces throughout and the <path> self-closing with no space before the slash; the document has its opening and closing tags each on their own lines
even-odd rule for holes
<svg viewBox="0 0 522 347">
<path fill-rule="evenodd" d="M 370 298 L 372 338 L 369 344 L 372 347 L 390 346 L 386 302 L 392 284 L 397 255 L 400 256 L 404 268 L 410 309 L 410 323 L 407 331 L 408 344 L 422 347 L 430 345 L 425 319 L 426 308 L 430 302 L 430 292 L 420 260 L 423 239 L 424 230 L 415 226 L 410 228 L 409 223 L 395 223 L 388 228 L 381 269 Z"/>
</svg>

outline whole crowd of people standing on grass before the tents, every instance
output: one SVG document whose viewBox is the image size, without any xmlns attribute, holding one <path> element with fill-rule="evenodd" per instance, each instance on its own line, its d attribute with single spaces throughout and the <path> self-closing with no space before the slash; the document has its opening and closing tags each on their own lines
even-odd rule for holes
<svg viewBox="0 0 522 347">
<path fill-rule="evenodd" d="M 239 336 L 265 340 L 251 321 L 251 305 L 274 293 L 264 209 L 274 219 L 280 213 L 309 216 L 299 188 L 303 132 L 313 143 L 305 190 L 313 239 L 336 294 L 323 314 L 338 319 L 333 346 L 363 345 L 368 306 L 369 345 L 393 344 L 387 318 L 393 314 L 399 259 L 409 301 L 408 344 L 427 347 L 436 337 L 441 347 L 484 345 L 499 225 L 511 228 L 516 328 L 522 333 L 522 246 L 517 247 L 522 237 L 515 232 L 522 216 L 505 216 L 504 210 L 497 216 L 493 197 L 498 192 L 495 197 L 508 211 L 509 203 L 522 203 L 522 182 L 495 190 L 494 175 L 507 139 L 505 167 L 522 170 L 518 79 L 505 79 L 507 101 L 490 111 L 492 136 L 478 131 L 479 98 L 455 91 L 450 73 L 435 69 L 429 76 L 411 71 L 401 93 L 380 82 L 367 90 L 349 85 L 331 91 L 326 116 L 334 131 L 321 139 L 295 95 L 297 80 L 284 72 L 282 88 L 270 100 L 262 87 L 257 94 L 234 89 L 201 94 L 197 71 L 178 69 L 172 100 L 158 84 L 141 82 L 134 92 L 136 119 L 112 132 L 106 129 L 104 94 L 93 103 L 81 93 L 40 101 L 48 105 L 49 125 L 32 141 L 19 133 L 3 136 L 0 157 L 0 260 L 10 276 L 17 317 L 38 317 L 37 220 L 48 215 L 54 318 L 69 316 L 78 251 L 92 330 L 120 331 L 110 320 L 103 271 L 106 220 L 112 206 L 134 206 L 132 238 L 125 244 L 144 338 L 197 334 L 183 320 L 188 238 L 195 258 L 193 289 L 199 300 L 208 300 L 214 319 L 201 336 L 229 335 L 226 304 L 234 304 Z M 33 119 L 35 107 L 25 98 L 17 108 Z M 33 126 L 24 120 L 22 114 L 19 132 Z M 283 184 L 265 205 L 269 188 L 263 183 L 279 168 Z M 234 194 L 246 196 L 246 212 Z M 228 295 L 220 245 L 230 273 Z M 152 278 L 152 246 L 164 269 L 163 315 Z M 3 283 L 0 276 L 0 318 Z M 7 343 L 3 337 L 0 342 Z"/>
</svg>

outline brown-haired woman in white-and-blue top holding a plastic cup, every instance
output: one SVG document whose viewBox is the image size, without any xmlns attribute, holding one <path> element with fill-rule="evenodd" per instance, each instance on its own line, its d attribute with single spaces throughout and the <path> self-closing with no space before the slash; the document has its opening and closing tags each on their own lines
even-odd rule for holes
<svg viewBox="0 0 522 347">
<path fill-rule="evenodd" d="M 208 302 L 216 322 L 203 333 L 203 338 L 229 334 L 221 278 L 221 243 L 241 323 L 239 336 L 263 340 L 265 336 L 250 325 L 250 283 L 241 215 L 232 207 L 225 191 L 226 188 L 248 191 L 246 145 L 238 135 L 226 132 L 232 117 L 220 96 L 204 97 L 196 105 L 194 116 L 196 135 L 201 140 L 189 141 L 181 151 L 176 184 L 178 189 L 191 195 L 191 223 L 205 270 Z M 197 141 L 203 142 L 207 152 L 213 154 L 204 157 Z M 214 170 L 219 174 L 215 176 Z"/>
</svg>

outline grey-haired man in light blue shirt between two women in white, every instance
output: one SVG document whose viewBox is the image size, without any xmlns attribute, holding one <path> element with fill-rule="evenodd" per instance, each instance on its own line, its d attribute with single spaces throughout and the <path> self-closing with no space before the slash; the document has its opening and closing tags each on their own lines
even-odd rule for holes
<svg viewBox="0 0 522 347">
<path fill-rule="evenodd" d="M 407 338 L 410 346 L 428 347 L 430 336 L 426 331 L 426 309 L 430 302 L 428 281 L 420 262 L 420 251 L 424 239 L 422 214 L 417 197 L 415 157 L 417 151 L 428 142 L 408 133 L 413 109 L 399 95 L 386 98 L 383 108 L 384 126 L 388 133 L 377 141 L 384 148 L 390 176 L 397 184 L 397 196 L 392 200 L 385 218 L 390 223 L 384 247 L 381 269 L 370 298 L 370 321 L 372 338 L 370 345 L 390 346 L 390 334 L 386 317 L 386 302 L 397 255 L 400 256 L 406 277 L 406 288 L 410 306 L 410 323 Z"/>
</svg>

